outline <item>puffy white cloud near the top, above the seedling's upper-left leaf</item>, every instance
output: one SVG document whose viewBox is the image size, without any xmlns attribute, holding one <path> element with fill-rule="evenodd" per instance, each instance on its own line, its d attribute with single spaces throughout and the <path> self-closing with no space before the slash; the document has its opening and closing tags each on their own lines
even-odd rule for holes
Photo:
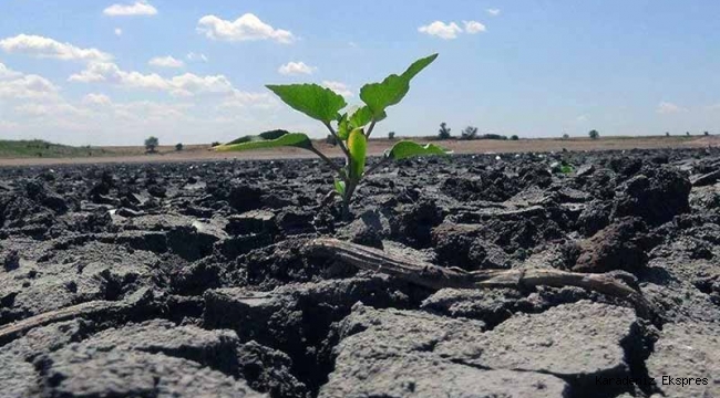
<svg viewBox="0 0 720 398">
<path fill-rule="evenodd" d="M 246 13 L 235 21 L 205 15 L 197 22 L 197 32 L 212 40 L 229 42 L 274 40 L 278 43 L 289 44 L 296 40 L 291 32 L 275 29 L 251 13 Z"/>
</svg>

